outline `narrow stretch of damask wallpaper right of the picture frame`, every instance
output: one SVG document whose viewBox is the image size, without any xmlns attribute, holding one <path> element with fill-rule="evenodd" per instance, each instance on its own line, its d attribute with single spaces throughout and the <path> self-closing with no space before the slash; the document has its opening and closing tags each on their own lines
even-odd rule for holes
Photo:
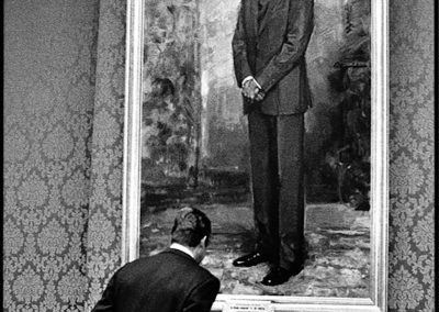
<svg viewBox="0 0 439 312">
<path fill-rule="evenodd" d="M 390 311 L 435 311 L 434 1 L 390 1 Z"/>
</svg>

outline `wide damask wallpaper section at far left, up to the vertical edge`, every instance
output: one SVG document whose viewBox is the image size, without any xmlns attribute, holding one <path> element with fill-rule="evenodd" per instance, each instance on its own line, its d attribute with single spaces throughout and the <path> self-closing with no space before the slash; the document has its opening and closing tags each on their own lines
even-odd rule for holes
<svg viewBox="0 0 439 312">
<path fill-rule="evenodd" d="M 3 311 L 88 293 L 98 1 L 4 1 Z"/>
</svg>

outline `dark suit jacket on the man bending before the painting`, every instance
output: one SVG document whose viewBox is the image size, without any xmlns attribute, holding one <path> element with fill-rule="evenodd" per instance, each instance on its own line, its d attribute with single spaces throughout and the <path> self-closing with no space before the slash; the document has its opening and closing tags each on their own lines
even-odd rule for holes
<svg viewBox="0 0 439 312">
<path fill-rule="evenodd" d="M 207 312 L 218 290 L 216 277 L 169 248 L 119 269 L 92 312 Z"/>
</svg>

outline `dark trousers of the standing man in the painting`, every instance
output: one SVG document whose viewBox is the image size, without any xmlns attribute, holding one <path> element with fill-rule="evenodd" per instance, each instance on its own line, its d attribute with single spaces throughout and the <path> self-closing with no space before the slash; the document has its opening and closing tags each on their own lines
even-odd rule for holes
<svg viewBox="0 0 439 312">
<path fill-rule="evenodd" d="M 304 256 L 304 115 L 248 115 L 256 250 L 289 269 Z"/>
</svg>

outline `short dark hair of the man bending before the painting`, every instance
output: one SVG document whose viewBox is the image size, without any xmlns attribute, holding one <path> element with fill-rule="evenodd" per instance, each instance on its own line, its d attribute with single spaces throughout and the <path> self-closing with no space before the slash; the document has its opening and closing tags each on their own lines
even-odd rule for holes
<svg viewBox="0 0 439 312">
<path fill-rule="evenodd" d="M 195 247 L 206 236 L 206 245 L 211 235 L 211 221 L 195 208 L 183 208 L 173 222 L 171 242 L 184 246 Z"/>
</svg>

